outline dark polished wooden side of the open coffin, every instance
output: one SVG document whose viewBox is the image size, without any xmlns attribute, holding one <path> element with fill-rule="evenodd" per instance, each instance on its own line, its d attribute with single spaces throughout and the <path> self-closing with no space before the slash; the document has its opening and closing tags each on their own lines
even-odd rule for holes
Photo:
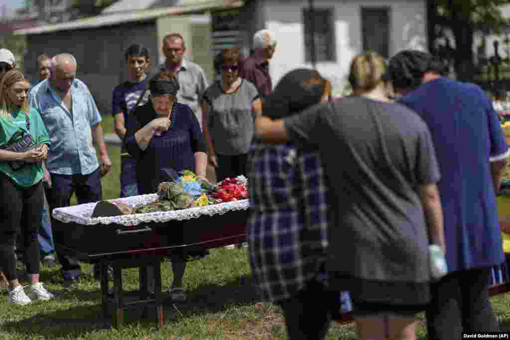
<svg viewBox="0 0 510 340">
<path fill-rule="evenodd" d="M 53 233 L 57 251 L 82 261 L 171 254 L 172 251 L 203 250 L 243 242 L 247 210 L 202 215 L 184 221 L 150 222 L 136 226 L 118 224 L 81 225 L 56 221 Z"/>
</svg>

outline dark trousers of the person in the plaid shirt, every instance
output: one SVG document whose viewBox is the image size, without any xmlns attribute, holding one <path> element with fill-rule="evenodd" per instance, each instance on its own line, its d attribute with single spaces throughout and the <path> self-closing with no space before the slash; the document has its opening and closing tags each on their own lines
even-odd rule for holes
<svg viewBox="0 0 510 340">
<path fill-rule="evenodd" d="M 289 340 L 322 340 L 331 322 L 332 306 L 339 304 L 336 295 L 318 282 L 311 281 L 293 297 L 281 301 Z"/>
</svg>

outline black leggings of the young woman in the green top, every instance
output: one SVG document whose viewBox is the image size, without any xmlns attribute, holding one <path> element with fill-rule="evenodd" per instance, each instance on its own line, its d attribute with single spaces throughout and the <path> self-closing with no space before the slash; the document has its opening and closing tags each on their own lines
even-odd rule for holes
<svg viewBox="0 0 510 340">
<path fill-rule="evenodd" d="M 27 274 L 39 274 L 40 254 L 37 240 L 43 207 L 42 183 L 21 188 L 0 174 L 0 268 L 7 280 L 17 279 L 14 245 L 21 235 Z"/>
</svg>

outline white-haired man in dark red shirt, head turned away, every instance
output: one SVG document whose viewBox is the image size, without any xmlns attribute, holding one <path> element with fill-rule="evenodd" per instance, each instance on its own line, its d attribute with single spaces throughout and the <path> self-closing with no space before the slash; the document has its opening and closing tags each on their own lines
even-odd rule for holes
<svg viewBox="0 0 510 340">
<path fill-rule="evenodd" d="M 269 60 L 273 57 L 276 47 L 274 35 L 267 30 L 260 30 L 253 35 L 253 53 L 244 60 L 240 75 L 259 91 L 261 97 L 267 96 L 272 90 Z"/>
</svg>

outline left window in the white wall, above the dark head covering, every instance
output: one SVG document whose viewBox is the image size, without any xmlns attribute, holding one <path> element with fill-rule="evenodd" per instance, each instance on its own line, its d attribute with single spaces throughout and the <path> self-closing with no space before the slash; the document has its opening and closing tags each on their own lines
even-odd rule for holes
<svg viewBox="0 0 510 340">
<path fill-rule="evenodd" d="M 303 22 L 305 61 L 312 61 L 312 37 L 315 38 L 315 61 L 336 61 L 333 9 L 316 8 L 313 12 L 303 9 Z"/>
</svg>

